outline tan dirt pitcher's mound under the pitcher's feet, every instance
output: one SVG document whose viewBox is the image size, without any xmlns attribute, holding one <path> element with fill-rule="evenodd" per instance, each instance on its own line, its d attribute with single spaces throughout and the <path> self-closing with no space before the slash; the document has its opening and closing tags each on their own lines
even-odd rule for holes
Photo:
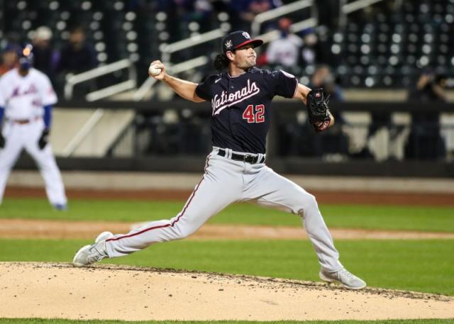
<svg viewBox="0 0 454 324">
<path fill-rule="evenodd" d="M 454 318 L 454 298 L 309 281 L 97 264 L 0 262 L 0 318 L 375 320 Z"/>
</svg>

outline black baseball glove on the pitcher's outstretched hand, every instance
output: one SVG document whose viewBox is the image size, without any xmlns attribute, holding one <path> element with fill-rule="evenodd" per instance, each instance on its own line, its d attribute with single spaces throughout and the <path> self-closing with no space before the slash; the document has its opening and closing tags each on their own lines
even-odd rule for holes
<svg viewBox="0 0 454 324">
<path fill-rule="evenodd" d="M 306 108 L 309 116 L 309 123 L 314 125 L 317 132 L 328 128 L 331 121 L 328 109 L 329 96 L 325 98 L 323 88 L 309 91 L 306 98 Z"/>
</svg>

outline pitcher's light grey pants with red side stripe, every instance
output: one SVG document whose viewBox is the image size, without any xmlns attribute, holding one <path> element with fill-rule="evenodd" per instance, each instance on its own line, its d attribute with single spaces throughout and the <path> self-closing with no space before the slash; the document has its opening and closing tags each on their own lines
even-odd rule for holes
<svg viewBox="0 0 454 324">
<path fill-rule="evenodd" d="M 215 147 L 206 159 L 203 178 L 177 216 L 147 223 L 126 235 L 114 235 L 106 241 L 109 257 L 128 255 L 155 242 L 186 238 L 231 203 L 255 201 L 301 216 L 321 267 L 329 272 L 343 267 L 313 195 L 263 163 L 230 160 L 217 153 Z"/>
</svg>

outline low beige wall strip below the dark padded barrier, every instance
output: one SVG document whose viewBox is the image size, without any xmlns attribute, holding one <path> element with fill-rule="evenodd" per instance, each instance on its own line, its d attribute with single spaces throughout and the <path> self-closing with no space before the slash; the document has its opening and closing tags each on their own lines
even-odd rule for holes
<svg viewBox="0 0 454 324">
<path fill-rule="evenodd" d="M 194 189 L 202 174 L 153 172 L 63 172 L 68 189 Z M 287 174 L 307 190 L 454 194 L 454 179 L 390 177 L 314 177 Z M 38 171 L 13 171 L 9 186 L 43 186 Z"/>
</svg>

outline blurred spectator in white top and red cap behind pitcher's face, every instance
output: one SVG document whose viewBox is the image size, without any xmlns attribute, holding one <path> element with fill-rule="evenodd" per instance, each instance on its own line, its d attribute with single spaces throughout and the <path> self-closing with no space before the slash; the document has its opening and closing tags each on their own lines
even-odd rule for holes
<svg viewBox="0 0 454 324">
<path fill-rule="evenodd" d="M 292 21 L 289 18 L 280 18 L 278 28 L 280 37 L 268 45 L 266 52 L 267 62 L 273 65 L 281 65 L 286 68 L 297 67 L 299 49 L 303 42 L 297 35 L 290 33 Z"/>
</svg>

